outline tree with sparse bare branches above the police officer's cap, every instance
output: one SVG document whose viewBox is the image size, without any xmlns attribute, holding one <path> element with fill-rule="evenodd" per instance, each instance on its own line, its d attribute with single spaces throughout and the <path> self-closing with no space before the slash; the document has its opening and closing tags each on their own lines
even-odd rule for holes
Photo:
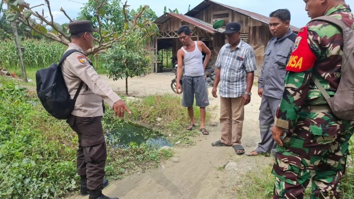
<svg viewBox="0 0 354 199">
<path fill-rule="evenodd" d="M 10 22 L 19 23 L 20 28 L 30 28 L 32 34 L 40 34 L 44 37 L 51 39 L 53 41 L 59 42 L 63 45 L 68 46 L 70 42 L 70 34 L 67 29 L 64 29 L 60 24 L 54 21 L 52 9 L 50 6 L 50 0 L 43 0 L 44 3 L 30 6 L 25 0 L 3 0 L 5 3 L 10 5 L 10 8 L 4 10 L 6 15 L 6 20 Z M 149 19 L 141 20 L 142 14 L 144 13 L 147 6 L 143 6 L 139 12 L 132 17 L 132 20 L 129 20 L 127 14 L 127 1 L 122 6 L 123 17 L 124 17 L 124 29 L 105 29 L 102 21 L 112 19 L 112 16 L 107 16 L 104 7 L 109 3 L 109 0 L 91 0 L 96 3 L 97 7 L 95 8 L 94 17 L 97 22 L 97 29 L 99 29 L 98 35 L 95 35 L 95 46 L 86 51 L 86 55 L 93 55 L 98 52 L 105 52 L 107 49 L 112 47 L 112 44 L 123 39 L 129 31 L 143 31 L 144 38 L 148 38 L 151 35 L 155 34 L 158 29 L 156 25 L 152 23 Z M 44 15 L 44 9 L 42 13 L 33 11 L 33 8 L 45 6 L 48 9 L 49 16 Z M 70 16 L 67 15 L 65 10 L 61 7 L 60 11 L 69 19 L 70 22 L 74 21 Z M 50 30 L 49 30 L 50 29 Z"/>
</svg>

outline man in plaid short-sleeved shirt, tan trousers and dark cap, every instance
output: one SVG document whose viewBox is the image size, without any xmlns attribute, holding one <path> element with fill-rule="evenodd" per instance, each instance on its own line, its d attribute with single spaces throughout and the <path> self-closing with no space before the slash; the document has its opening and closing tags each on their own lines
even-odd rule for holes
<svg viewBox="0 0 354 199">
<path fill-rule="evenodd" d="M 244 106 L 251 101 L 256 59 L 253 48 L 241 40 L 241 25 L 230 22 L 223 32 L 225 44 L 216 59 L 216 77 L 212 95 L 217 97 L 220 82 L 220 123 L 221 139 L 212 142 L 213 146 L 232 146 L 236 154 L 244 153 L 241 145 Z"/>
</svg>

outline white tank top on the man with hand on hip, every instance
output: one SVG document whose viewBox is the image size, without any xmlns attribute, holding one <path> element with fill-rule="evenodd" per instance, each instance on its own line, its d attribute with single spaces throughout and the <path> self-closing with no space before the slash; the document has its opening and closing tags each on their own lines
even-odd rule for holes
<svg viewBox="0 0 354 199">
<path fill-rule="evenodd" d="M 184 75 L 190 77 L 204 76 L 202 52 L 198 48 L 197 41 L 194 41 L 194 44 L 195 47 L 192 52 L 187 52 L 183 47 L 181 48 L 184 51 Z"/>
</svg>

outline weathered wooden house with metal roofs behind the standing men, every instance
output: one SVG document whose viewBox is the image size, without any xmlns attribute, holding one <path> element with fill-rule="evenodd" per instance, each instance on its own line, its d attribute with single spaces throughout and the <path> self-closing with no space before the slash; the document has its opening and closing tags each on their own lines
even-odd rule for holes
<svg viewBox="0 0 354 199">
<path fill-rule="evenodd" d="M 236 4 L 236 1 L 230 1 L 230 4 Z M 214 29 L 213 23 L 221 19 L 225 20 L 224 26 Z M 191 28 L 193 40 L 201 40 L 206 43 L 211 50 L 208 66 L 213 66 L 220 48 L 227 42 L 222 32 L 228 22 L 241 24 L 241 39 L 253 47 L 258 68 L 255 73 L 260 74 L 266 44 L 272 38 L 269 31 L 269 17 L 213 0 L 202 1 L 184 15 L 166 13 L 154 21 L 160 32 L 152 39 L 155 53 L 154 72 L 157 72 L 158 66 L 161 65 L 161 60 L 158 58 L 161 50 L 172 49 L 173 55 L 177 55 L 178 49 L 182 47 L 177 35 L 177 29 L 182 25 L 188 25 Z M 297 33 L 298 28 L 294 26 L 290 28 Z"/>
</svg>

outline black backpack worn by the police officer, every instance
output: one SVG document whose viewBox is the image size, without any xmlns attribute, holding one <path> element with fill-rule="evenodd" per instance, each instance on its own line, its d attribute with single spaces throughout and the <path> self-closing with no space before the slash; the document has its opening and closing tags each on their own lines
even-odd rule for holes
<svg viewBox="0 0 354 199">
<path fill-rule="evenodd" d="M 36 72 L 38 98 L 44 109 L 57 119 L 67 119 L 69 117 L 84 84 L 81 81 L 74 99 L 71 99 L 61 73 L 61 63 L 74 52 L 80 51 L 69 50 L 61 57 L 59 64 L 52 63 L 48 68 L 40 69 Z"/>
</svg>

